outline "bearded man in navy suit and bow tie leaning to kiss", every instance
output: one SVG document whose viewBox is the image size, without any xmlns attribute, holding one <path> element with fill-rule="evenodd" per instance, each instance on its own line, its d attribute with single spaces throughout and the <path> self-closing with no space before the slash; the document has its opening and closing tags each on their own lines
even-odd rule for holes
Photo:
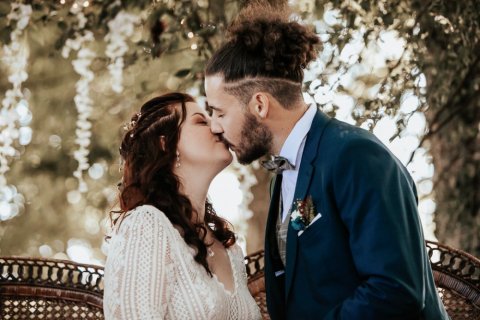
<svg viewBox="0 0 480 320">
<path fill-rule="evenodd" d="M 304 102 L 318 39 L 271 15 L 240 16 L 205 72 L 212 132 L 243 164 L 279 156 L 265 163 L 271 318 L 448 319 L 412 178 L 375 136 Z"/>
</svg>

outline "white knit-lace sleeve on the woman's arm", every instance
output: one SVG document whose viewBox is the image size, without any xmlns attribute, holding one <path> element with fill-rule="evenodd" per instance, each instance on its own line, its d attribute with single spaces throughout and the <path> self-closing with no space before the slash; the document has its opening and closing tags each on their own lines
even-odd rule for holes
<svg viewBox="0 0 480 320">
<path fill-rule="evenodd" d="M 113 274 L 119 298 L 115 319 L 163 319 L 167 296 L 167 266 L 170 264 L 168 229 L 163 213 L 142 206 L 125 218 L 118 230 L 121 241 L 115 250 L 123 267 Z M 117 266 L 118 267 L 118 266 Z M 112 268 L 115 268 L 113 266 Z"/>
</svg>

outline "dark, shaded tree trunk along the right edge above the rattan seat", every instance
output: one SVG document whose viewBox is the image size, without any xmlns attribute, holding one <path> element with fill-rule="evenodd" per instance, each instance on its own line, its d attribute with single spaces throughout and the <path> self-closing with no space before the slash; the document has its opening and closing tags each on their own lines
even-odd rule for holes
<svg viewBox="0 0 480 320">
<path fill-rule="evenodd" d="M 480 256 L 480 13 L 462 1 L 437 1 L 429 9 L 420 28 L 428 33 L 423 72 L 436 235 Z M 449 23 L 435 21 L 438 15 Z"/>
</svg>

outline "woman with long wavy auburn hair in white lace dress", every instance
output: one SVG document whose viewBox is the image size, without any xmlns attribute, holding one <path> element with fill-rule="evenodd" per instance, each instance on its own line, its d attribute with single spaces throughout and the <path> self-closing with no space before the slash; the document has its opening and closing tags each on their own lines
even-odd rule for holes
<svg viewBox="0 0 480 320">
<path fill-rule="evenodd" d="M 206 112 L 186 94 L 154 98 L 132 117 L 120 155 L 105 319 L 261 319 L 235 234 L 207 201 L 232 155 Z"/>
</svg>

